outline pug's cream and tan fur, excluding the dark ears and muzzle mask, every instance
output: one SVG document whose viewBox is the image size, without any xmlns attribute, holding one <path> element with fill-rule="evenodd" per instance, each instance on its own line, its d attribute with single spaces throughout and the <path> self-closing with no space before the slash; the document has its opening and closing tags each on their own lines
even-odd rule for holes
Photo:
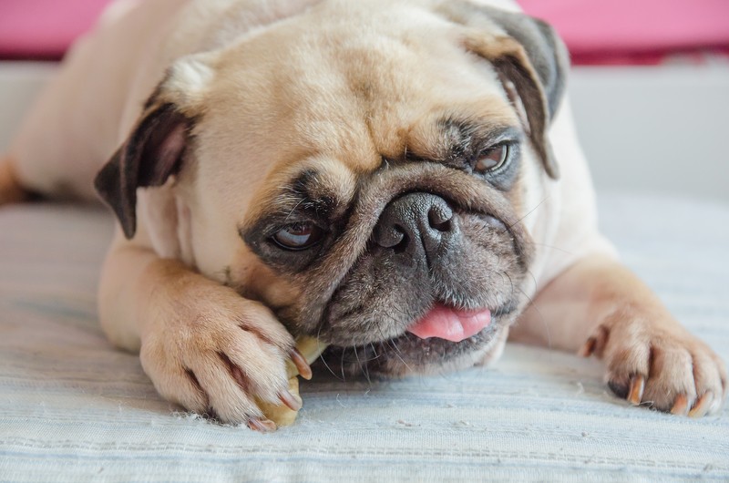
<svg viewBox="0 0 729 483">
<path fill-rule="evenodd" d="M 197 119 L 180 173 L 139 191 L 136 235 L 126 240 L 118 231 L 99 289 L 109 339 L 140 351 L 162 396 L 253 426 L 262 417 L 255 397 L 280 402 L 293 337 L 270 308 L 296 309 L 316 293 L 307 281 L 265 266 L 239 230 L 288 206 L 282 186 L 297 174 L 307 168 L 322 173 L 316 190 L 343 200 L 344 210 L 357 196 L 358 181 L 381 169 L 383 159 L 445 156 L 436 128 L 443 118 L 523 122 L 484 60 L 514 57 L 533 77 L 521 46 L 498 29 L 485 33 L 448 22 L 434 5 L 142 2 L 107 18 L 74 49 L 11 149 L 17 162 L 0 164 L 0 201 L 17 198 L 15 177 L 28 189 L 57 195 L 57 187 L 69 185 L 88 198 L 94 172 L 155 108 L 171 103 Z M 275 22 L 285 28 L 269 28 Z M 358 28 L 364 24 L 369 29 Z M 92 69 L 98 59 L 116 68 Z M 112 71 L 123 75 L 109 77 Z M 84 100 L 77 106 L 81 87 Z M 57 122 L 67 113 L 69 122 Z M 639 402 L 662 409 L 675 405 L 686 413 L 695 403 L 694 415 L 715 412 L 726 391 L 721 361 L 613 261 L 597 229 L 569 101 L 549 139 L 560 180 L 550 179 L 526 149 L 517 186 L 495 201 L 508 205 L 524 237 L 535 241 L 534 283 L 525 292 L 536 298 L 514 337 L 570 351 L 590 341 L 590 351 L 606 361 L 609 381 L 626 385 L 629 397 L 640 392 Z M 372 181 L 379 191 L 368 192 L 422 187 L 427 180 L 417 177 L 428 174 L 457 196 L 469 192 L 435 168 L 408 180 Z M 383 200 L 372 195 L 362 205 L 376 216 Z M 363 226 L 376 221 L 362 217 Z M 360 243 L 368 236 L 352 235 Z M 343 259 L 356 257 L 344 245 L 335 250 Z M 323 266 L 329 272 L 318 281 L 334 272 Z M 496 358 L 506 334 L 467 362 Z"/>
</svg>

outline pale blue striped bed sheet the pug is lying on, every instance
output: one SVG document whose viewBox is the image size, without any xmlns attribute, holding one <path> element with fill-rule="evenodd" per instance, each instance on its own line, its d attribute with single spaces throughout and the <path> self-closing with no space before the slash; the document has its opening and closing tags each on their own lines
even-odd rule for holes
<svg viewBox="0 0 729 483">
<path fill-rule="evenodd" d="M 603 194 L 624 261 L 729 359 L 729 207 Z M 106 211 L 0 209 L 2 481 L 626 481 L 729 478 L 729 411 L 626 406 L 601 365 L 509 344 L 497 365 L 369 384 L 315 375 L 271 435 L 180 412 L 98 327 Z"/>
</svg>

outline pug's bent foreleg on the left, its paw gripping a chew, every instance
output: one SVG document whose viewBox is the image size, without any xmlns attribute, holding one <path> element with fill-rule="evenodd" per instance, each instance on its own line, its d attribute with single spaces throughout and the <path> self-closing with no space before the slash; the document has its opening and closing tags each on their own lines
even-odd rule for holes
<svg viewBox="0 0 729 483">
<path fill-rule="evenodd" d="M 276 426 L 256 400 L 301 407 L 289 391 L 287 362 L 302 374 L 310 370 L 292 335 L 262 303 L 119 240 L 99 295 L 109 340 L 139 350 L 145 372 L 170 402 L 258 430 Z"/>
</svg>

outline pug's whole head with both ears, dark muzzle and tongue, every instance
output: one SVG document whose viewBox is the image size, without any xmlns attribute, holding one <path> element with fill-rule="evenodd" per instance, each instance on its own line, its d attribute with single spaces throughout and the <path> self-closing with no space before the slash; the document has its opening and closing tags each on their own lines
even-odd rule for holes
<svg viewBox="0 0 729 483">
<path fill-rule="evenodd" d="M 160 255 L 347 370 L 473 365 L 531 290 L 523 219 L 557 176 L 564 66 L 523 15 L 325 2 L 176 62 L 98 190 L 132 237 L 148 188 Z"/>
</svg>

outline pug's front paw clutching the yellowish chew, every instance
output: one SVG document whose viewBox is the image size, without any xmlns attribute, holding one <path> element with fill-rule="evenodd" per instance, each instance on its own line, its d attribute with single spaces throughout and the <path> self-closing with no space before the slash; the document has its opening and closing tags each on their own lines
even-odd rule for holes
<svg viewBox="0 0 729 483">
<path fill-rule="evenodd" d="M 276 426 L 257 401 L 294 411 L 302 406 L 289 391 L 287 361 L 302 375 L 311 371 L 292 335 L 265 306 L 224 287 L 174 304 L 142 334 L 141 363 L 161 396 L 261 431 Z"/>
</svg>

